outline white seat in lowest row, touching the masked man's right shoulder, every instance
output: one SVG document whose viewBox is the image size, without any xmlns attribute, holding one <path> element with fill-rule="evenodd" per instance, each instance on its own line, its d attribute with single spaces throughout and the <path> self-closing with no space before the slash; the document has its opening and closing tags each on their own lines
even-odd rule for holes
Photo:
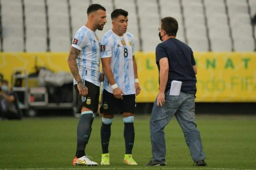
<svg viewBox="0 0 256 170">
<path fill-rule="evenodd" d="M 190 46 L 192 51 L 208 51 L 209 45 L 208 45 L 208 39 L 206 37 L 189 37 L 187 39 L 187 45 Z"/>
</svg>

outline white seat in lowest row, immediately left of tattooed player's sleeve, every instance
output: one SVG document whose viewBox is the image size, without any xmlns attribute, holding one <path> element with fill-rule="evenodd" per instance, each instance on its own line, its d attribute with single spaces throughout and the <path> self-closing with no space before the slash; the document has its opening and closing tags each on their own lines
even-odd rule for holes
<svg viewBox="0 0 256 170">
<path fill-rule="evenodd" d="M 50 39 L 50 51 L 52 52 L 68 52 L 71 46 L 69 37 L 54 37 Z"/>
</svg>

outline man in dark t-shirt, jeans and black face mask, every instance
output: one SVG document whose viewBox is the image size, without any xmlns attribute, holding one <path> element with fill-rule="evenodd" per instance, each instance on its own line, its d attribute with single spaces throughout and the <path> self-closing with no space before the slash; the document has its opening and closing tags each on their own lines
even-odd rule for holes
<svg viewBox="0 0 256 170">
<path fill-rule="evenodd" d="M 153 158 L 145 165 L 166 165 L 164 128 L 175 115 L 184 133 L 195 166 L 207 166 L 200 132 L 195 123 L 195 93 L 197 68 L 193 51 L 176 39 L 178 22 L 175 18 L 161 19 L 158 28 L 162 43 L 155 50 L 159 71 L 159 93 L 154 102 L 150 119 L 150 137 Z M 182 82 L 177 95 L 170 95 L 173 80 Z"/>
</svg>

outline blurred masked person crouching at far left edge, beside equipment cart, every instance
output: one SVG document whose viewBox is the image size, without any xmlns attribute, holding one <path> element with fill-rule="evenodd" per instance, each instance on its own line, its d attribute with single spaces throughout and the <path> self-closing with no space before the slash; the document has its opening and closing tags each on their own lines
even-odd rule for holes
<svg viewBox="0 0 256 170">
<path fill-rule="evenodd" d="M 18 96 L 8 91 L 8 81 L 1 80 L 0 87 L 0 119 L 22 119 L 22 111 L 18 106 Z"/>
</svg>

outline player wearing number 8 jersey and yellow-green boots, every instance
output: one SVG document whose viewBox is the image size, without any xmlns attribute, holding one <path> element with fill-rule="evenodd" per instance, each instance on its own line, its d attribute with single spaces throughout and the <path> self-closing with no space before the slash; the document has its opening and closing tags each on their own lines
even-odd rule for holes
<svg viewBox="0 0 256 170">
<path fill-rule="evenodd" d="M 101 60 L 104 71 L 101 144 L 102 165 L 109 165 L 109 139 L 114 114 L 119 110 L 123 117 L 125 137 L 124 164 L 137 165 L 131 156 L 134 144 L 134 113 L 136 95 L 139 94 L 137 64 L 134 57 L 134 36 L 127 31 L 128 12 L 115 9 L 111 13 L 112 29 L 103 36 Z"/>
</svg>

